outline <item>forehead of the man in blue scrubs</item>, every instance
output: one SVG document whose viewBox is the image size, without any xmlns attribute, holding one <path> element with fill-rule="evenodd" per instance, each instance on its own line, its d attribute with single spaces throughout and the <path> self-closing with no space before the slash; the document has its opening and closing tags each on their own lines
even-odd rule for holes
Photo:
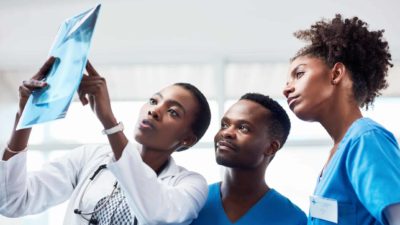
<svg viewBox="0 0 400 225">
<path fill-rule="evenodd" d="M 265 121 L 269 113 L 268 109 L 256 102 L 239 100 L 228 109 L 224 117 L 231 120 L 246 120 L 258 124 L 259 121 Z"/>
</svg>

